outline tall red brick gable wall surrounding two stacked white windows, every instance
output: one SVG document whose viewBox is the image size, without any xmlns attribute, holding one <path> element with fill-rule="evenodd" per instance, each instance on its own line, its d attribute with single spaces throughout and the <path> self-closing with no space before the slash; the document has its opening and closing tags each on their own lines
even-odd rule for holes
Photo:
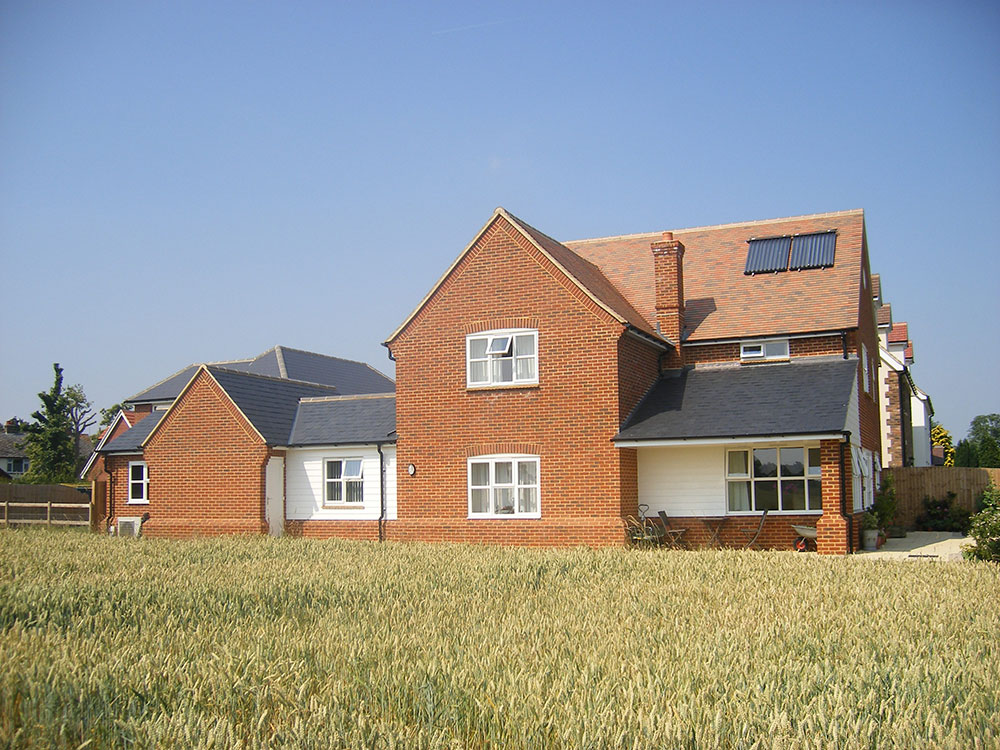
<svg viewBox="0 0 1000 750">
<path fill-rule="evenodd" d="M 505 327 L 538 329 L 538 385 L 468 389 L 466 334 Z M 387 524 L 389 538 L 621 544 L 635 457 L 611 440 L 656 367 L 655 350 L 640 355 L 640 342 L 622 336 L 619 322 L 496 218 L 392 342 L 400 520 Z M 640 360 L 627 383 L 620 347 Z M 467 458 L 505 452 L 541 457 L 541 519 L 468 519 Z"/>
</svg>

